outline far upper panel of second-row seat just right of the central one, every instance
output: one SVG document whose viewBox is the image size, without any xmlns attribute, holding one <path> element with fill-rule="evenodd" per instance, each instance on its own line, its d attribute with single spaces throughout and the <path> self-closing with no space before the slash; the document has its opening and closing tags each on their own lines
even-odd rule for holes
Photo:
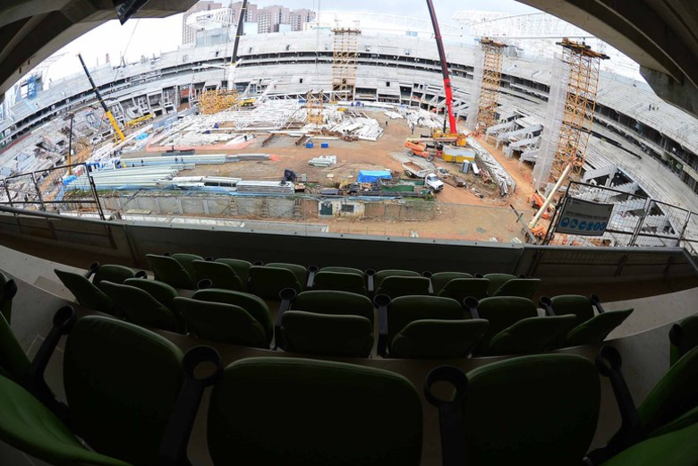
<svg viewBox="0 0 698 466">
<path fill-rule="evenodd" d="M 387 343 L 415 320 L 462 320 L 464 311 L 458 301 L 439 296 L 402 296 L 387 308 Z"/>
</svg>

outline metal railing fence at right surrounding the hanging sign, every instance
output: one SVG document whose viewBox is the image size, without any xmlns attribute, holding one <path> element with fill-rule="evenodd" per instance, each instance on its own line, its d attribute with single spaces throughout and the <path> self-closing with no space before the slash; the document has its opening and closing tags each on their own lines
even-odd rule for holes
<svg viewBox="0 0 698 466">
<path fill-rule="evenodd" d="M 568 199 L 613 204 L 602 236 L 558 233 L 561 212 Z M 555 246 L 665 247 L 698 250 L 698 214 L 660 200 L 605 186 L 570 182 L 543 241 Z"/>
</svg>

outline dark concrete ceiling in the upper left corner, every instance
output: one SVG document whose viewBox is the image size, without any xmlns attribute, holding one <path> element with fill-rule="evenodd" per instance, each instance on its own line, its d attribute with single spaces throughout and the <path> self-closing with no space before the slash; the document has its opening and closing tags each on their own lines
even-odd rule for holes
<svg viewBox="0 0 698 466">
<path fill-rule="evenodd" d="M 163 18 L 196 0 L 150 0 L 137 18 Z M 17 80 L 48 56 L 100 24 L 116 19 L 112 0 L 0 2 L 0 102 Z"/>
</svg>

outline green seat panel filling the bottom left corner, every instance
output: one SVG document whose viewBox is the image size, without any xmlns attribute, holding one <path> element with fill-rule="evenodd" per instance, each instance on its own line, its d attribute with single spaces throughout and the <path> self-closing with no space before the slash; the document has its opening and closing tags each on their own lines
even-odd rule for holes
<svg viewBox="0 0 698 466">
<path fill-rule="evenodd" d="M 0 440 L 33 458 L 49 464 L 129 466 L 127 462 L 89 451 L 37 398 L 2 376 L 0 412 L 3 413 L 0 416 Z M 19 459 L 12 462 L 5 457 L 5 460 L 6 464 L 19 464 Z"/>
</svg>

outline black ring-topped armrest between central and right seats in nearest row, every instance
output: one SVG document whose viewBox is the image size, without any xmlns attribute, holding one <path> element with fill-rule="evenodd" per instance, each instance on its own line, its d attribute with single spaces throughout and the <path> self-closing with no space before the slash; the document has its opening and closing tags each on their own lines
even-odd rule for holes
<svg viewBox="0 0 698 466">
<path fill-rule="evenodd" d="M 451 400 L 439 398 L 431 391 L 437 382 L 447 382 L 455 387 Z M 431 369 L 424 381 L 424 397 L 438 409 L 438 428 L 441 433 L 441 458 L 443 466 L 467 464 L 465 431 L 463 426 L 463 400 L 468 390 L 468 377 L 452 366 Z"/>
</svg>

